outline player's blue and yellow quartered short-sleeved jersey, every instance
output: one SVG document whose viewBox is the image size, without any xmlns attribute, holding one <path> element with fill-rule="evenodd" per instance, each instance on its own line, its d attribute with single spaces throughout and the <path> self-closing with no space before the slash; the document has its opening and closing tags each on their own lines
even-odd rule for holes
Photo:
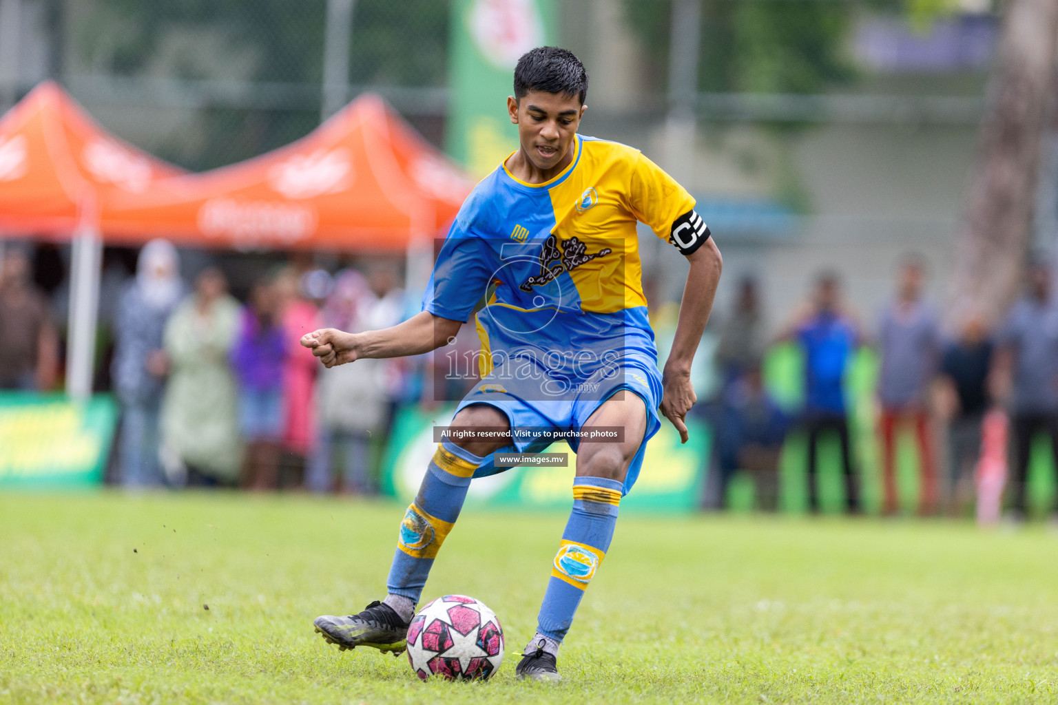
<svg viewBox="0 0 1058 705">
<path fill-rule="evenodd" d="M 694 199 L 637 149 L 581 135 L 574 149 L 542 184 L 519 181 L 505 161 L 441 245 L 422 308 L 459 321 L 477 310 L 482 377 L 497 353 L 549 356 L 549 371 L 580 378 L 605 351 L 657 359 L 636 223 L 669 240 Z"/>
</svg>

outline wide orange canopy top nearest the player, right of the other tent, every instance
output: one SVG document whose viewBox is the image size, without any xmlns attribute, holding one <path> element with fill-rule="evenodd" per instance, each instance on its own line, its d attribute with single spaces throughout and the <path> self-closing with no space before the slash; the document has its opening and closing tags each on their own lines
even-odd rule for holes
<svg viewBox="0 0 1058 705">
<path fill-rule="evenodd" d="M 365 94 L 276 151 L 110 194 L 101 227 L 107 240 L 403 254 L 443 228 L 472 186 L 381 97 Z"/>
</svg>

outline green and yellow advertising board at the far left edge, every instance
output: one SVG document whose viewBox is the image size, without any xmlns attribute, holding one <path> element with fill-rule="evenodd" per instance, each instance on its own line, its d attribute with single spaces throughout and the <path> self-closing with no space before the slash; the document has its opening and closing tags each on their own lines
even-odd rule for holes
<svg viewBox="0 0 1058 705">
<path fill-rule="evenodd" d="M 116 420 L 105 394 L 76 404 L 58 394 L 0 393 L 0 489 L 102 484 Z"/>
</svg>

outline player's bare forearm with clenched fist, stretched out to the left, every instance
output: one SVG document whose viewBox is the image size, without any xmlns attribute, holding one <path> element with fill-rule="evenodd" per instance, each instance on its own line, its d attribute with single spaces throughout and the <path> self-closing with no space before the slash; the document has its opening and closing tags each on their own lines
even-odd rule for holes
<svg viewBox="0 0 1058 705">
<path fill-rule="evenodd" d="M 460 326 L 458 320 L 422 311 L 403 323 L 380 331 L 346 333 L 324 328 L 304 335 L 302 345 L 311 348 L 324 367 L 331 368 L 365 357 L 403 357 L 430 352 L 448 345 Z"/>
</svg>

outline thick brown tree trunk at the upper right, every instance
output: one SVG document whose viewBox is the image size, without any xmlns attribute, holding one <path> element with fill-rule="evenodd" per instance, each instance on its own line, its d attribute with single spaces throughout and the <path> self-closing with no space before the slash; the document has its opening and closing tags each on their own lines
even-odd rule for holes
<svg viewBox="0 0 1058 705">
<path fill-rule="evenodd" d="M 955 243 L 948 322 L 999 320 L 1017 296 L 1028 247 L 1041 135 L 1054 89 L 1058 0 L 1008 0 L 977 166 Z"/>
</svg>

